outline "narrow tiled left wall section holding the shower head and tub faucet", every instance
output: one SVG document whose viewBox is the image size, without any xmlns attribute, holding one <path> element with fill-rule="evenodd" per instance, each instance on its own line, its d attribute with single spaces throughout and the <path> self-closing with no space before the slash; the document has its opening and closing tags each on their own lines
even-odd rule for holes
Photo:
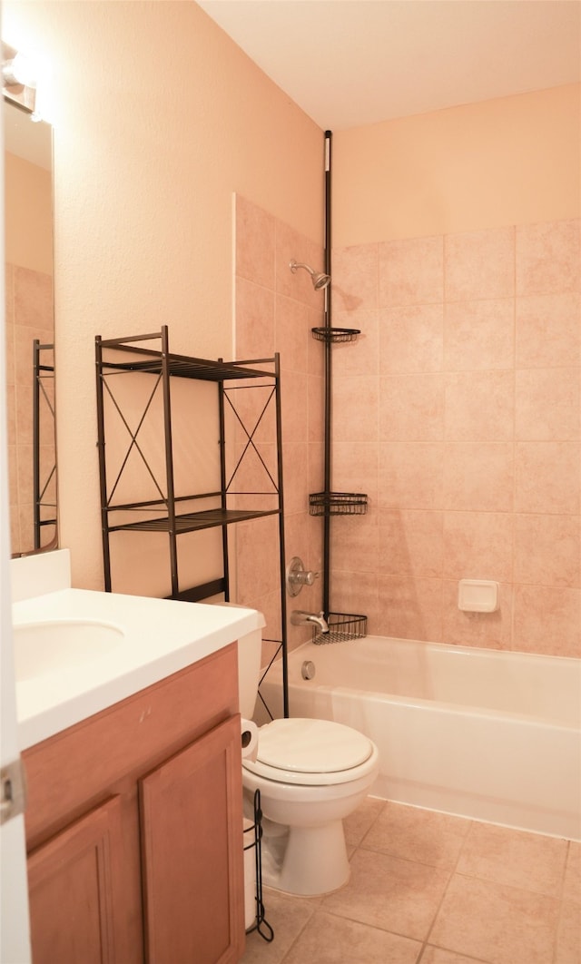
<svg viewBox="0 0 581 964">
<path fill-rule="evenodd" d="M 236 199 L 236 357 L 280 353 L 282 464 L 286 560 L 298 555 L 306 569 L 321 567 L 321 520 L 308 515 L 308 494 L 323 485 L 323 353 L 311 329 L 323 324 L 325 295 L 289 261 L 323 267 L 323 248 L 252 201 Z M 265 613 L 265 638 L 279 639 L 280 590 L 276 520 L 237 526 L 237 600 Z M 267 547 L 269 550 L 267 550 Z M 321 583 L 305 586 L 293 608 L 321 610 Z M 310 632 L 288 626 L 292 648 Z M 273 653 L 265 644 L 263 665 Z"/>
</svg>

